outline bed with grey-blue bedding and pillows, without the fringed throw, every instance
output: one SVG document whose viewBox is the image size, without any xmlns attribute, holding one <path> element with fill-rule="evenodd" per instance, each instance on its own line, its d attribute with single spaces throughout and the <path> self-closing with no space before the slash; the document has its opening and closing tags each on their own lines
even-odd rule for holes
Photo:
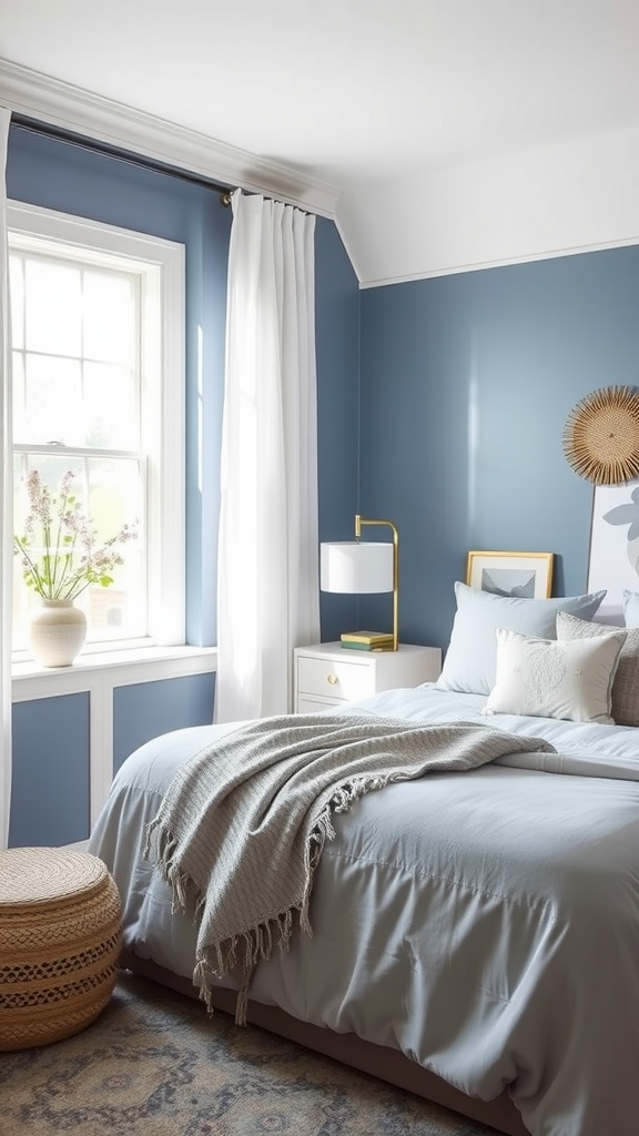
<svg viewBox="0 0 639 1136">
<path fill-rule="evenodd" d="M 639 724 L 639 630 L 591 624 L 601 593 L 456 593 L 438 683 L 341 715 L 468 724 L 525 745 L 387 784 L 334 818 L 313 934 L 257 963 L 248 1020 L 511 1136 L 630 1136 L 639 732 L 619 721 Z M 122 895 L 122 964 L 194 996 L 197 922 L 188 904 L 175 910 L 148 829 L 193 754 L 243 728 L 177 730 L 139 749 L 89 845 Z M 238 985 L 221 978 L 213 1004 L 233 1012 Z"/>
</svg>

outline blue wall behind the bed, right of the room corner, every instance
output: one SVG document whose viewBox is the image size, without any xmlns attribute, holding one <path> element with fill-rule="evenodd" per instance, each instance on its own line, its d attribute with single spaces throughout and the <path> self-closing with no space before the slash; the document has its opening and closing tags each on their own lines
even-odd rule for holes
<svg viewBox="0 0 639 1136">
<path fill-rule="evenodd" d="M 638 296 L 638 248 L 362 293 L 360 504 L 399 528 L 405 642 L 446 645 L 470 549 L 554 552 L 554 594 L 586 588 L 594 491 L 563 428 L 639 385 Z"/>
</svg>

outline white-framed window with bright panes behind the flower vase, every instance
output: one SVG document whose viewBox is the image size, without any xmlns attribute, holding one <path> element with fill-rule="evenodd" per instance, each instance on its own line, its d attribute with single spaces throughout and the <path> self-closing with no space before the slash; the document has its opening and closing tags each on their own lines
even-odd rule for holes
<svg viewBox="0 0 639 1136">
<path fill-rule="evenodd" d="M 77 600 L 91 650 L 183 643 L 183 247 L 32 206 L 8 212 L 15 532 L 30 470 L 53 494 L 73 470 L 100 542 L 138 523 L 114 583 Z M 36 596 L 14 566 L 25 652 Z"/>
</svg>

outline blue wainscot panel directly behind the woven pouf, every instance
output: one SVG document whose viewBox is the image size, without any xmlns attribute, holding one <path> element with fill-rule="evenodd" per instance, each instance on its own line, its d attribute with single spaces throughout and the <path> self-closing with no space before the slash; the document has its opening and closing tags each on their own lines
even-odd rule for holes
<svg viewBox="0 0 639 1136">
<path fill-rule="evenodd" d="M 89 836 L 89 694 L 15 702 L 9 845 Z"/>
</svg>

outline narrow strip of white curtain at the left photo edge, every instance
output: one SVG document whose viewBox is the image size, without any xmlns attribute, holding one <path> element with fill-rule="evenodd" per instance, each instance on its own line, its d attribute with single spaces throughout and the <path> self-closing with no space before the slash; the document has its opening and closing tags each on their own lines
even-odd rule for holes
<svg viewBox="0 0 639 1136">
<path fill-rule="evenodd" d="M 0 847 L 9 840 L 11 803 L 11 580 L 14 576 L 7 143 L 11 112 L 0 107 Z"/>
</svg>

